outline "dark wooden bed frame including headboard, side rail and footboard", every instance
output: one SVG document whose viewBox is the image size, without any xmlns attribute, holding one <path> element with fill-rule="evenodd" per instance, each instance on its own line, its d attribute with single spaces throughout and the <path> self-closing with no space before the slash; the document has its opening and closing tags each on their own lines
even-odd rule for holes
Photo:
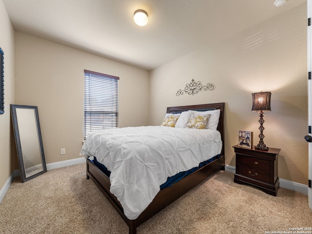
<svg viewBox="0 0 312 234">
<path fill-rule="evenodd" d="M 213 173 L 224 170 L 224 102 L 214 103 L 214 104 L 202 104 L 193 106 L 178 106 L 178 107 L 168 107 L 167 113 L 181 113 L 187 110 L 215 110 L 220 109 L 220 118 L 217 130 L 221 133 L 221 139 L 223 142 L 222 156 L 219 159 L 215 159 L 211 163 L 200 168 L 196 172 L 184 177 L 180 181 L 173 184 L 171 187 L 162 189 L 158 192 L 152 203 L 134 220 L 130 220 L 124 215 L 123 208 L 117 200 L 116 196 L 110 193 L 110 180 L 109 178 L 91 161 L 87 159 L 87 179 L 91 178 L 106 198 L 110 201 L 113 207 L 117 210 L 119 215 L 124 219 L 124 221 L 129 226 L 129 234 L 136 234 L 137 227 L 144 223 L 146 220 L 156 215 L 158 212 L 163 210 L 165 207 L 170 205 L 180 196 L 184 195 L 196 185 L 201 183 L 207 177 L 211 176 Z"/>
</svg>

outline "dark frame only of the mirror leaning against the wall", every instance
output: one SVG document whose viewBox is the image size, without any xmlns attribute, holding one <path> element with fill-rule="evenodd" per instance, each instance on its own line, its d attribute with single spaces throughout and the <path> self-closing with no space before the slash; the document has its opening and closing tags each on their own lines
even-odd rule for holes
<svg viewBox="0 0 312 234">
<path fill-rule="evenodd" d="M 16 149 L 17 149 L 17 154 L 18 154 L 18 159 L 19 159 L 19 164 L 20 164 L 20 178 L 21 178 L 21 182 L 23 183 L 27 180 L 30 180 L 36 176 L 39 176 L 47 172 L 47 167 L 46 167 L 45 158 L 44 158 L 43 144 L 42 144 L 40 123 L 39 123 L 38 107 L 26 106 L 26 105 L 14 105 L 14 104 L 11 104 L 10 107 L 11 107 L 11 116 L 12 116 L 12 122 L 13 122 L 13 131 L 14 131 L 14 137 L 15 137 L 15 142 L 16 142 Z M 18 126 L 18 121 L 17 121 L 16 108 L 35 110 L 38 141 L 39 141 L 39 148 L 40 148 L 40 155 L 41 155 L 41 162 L 42 162 L 43 170 L 29 177 L 26 177 L 26 171 L 24 167 L 24 159 L 23 159 L 21 144 L 20 144 L 20 132 L 19 132 L 19 126 Z"/>
</svg>

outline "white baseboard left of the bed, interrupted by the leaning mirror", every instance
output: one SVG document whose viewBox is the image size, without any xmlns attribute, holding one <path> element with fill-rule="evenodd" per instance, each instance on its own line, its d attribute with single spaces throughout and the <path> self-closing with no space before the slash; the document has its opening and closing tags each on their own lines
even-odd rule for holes
<svg viewBox="0 0 312 234">
<path fill-rule="evenodd" d="M 79 158 L 60 161 L 60 162 L 49 163 L 47 164 L 47 170 L 52 170 L 52 169 L 56 169 L 60 167 L 66 167 L 66 166 L 75 165 L 75 164 L 84 163 L 84 162 L 86 162 L 86 159 L 84 157 L 79 157 Z M 2 201 L 4 195 L 8 191 L 10 185 L 12 184 L 13 179 L 16 176 L 20 176 L 20 170 L 14 170 L 11 176 L 5 182 L 4 186 L 0 190 L 0 202 Z"/>
</svg>

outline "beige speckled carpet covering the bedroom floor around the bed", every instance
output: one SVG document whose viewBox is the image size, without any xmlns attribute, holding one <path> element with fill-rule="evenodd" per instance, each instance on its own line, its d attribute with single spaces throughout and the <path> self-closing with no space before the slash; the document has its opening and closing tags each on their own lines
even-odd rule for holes
<svg viewBox="0 0 312 234">
<path fill-rule="evenodd" d="M 312 227 L 307 196 L 280 188 L 277 197 L 219 172 L 137 228 L 138 234 L 264 234 Z M 311 230 L 310 230 L 311 231 Z M 1 234 L 127 234 L 128 226 L 85 164 L 50 170 L 20 183 L 0 203 Z"/>
</svg>

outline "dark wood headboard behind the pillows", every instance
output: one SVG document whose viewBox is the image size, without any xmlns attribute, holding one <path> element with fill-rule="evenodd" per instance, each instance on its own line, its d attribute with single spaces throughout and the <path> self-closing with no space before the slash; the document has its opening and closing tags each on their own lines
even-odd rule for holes
<svg viewBox="0 0 312 234">
<path fill-rule="evenodd" d="M 224 102 L 212 103 L 212 104 L 201 104 L 192 106 L 174 106 L 168 107 L 167 113 L 178 114 L 183 111 L 194 110 L 194 111 L 210 111 L 220 109 L 220 118 L 217 130 L 221 133 L 222 140 L 222 155 L 224 155 Z"/>
</svg>

